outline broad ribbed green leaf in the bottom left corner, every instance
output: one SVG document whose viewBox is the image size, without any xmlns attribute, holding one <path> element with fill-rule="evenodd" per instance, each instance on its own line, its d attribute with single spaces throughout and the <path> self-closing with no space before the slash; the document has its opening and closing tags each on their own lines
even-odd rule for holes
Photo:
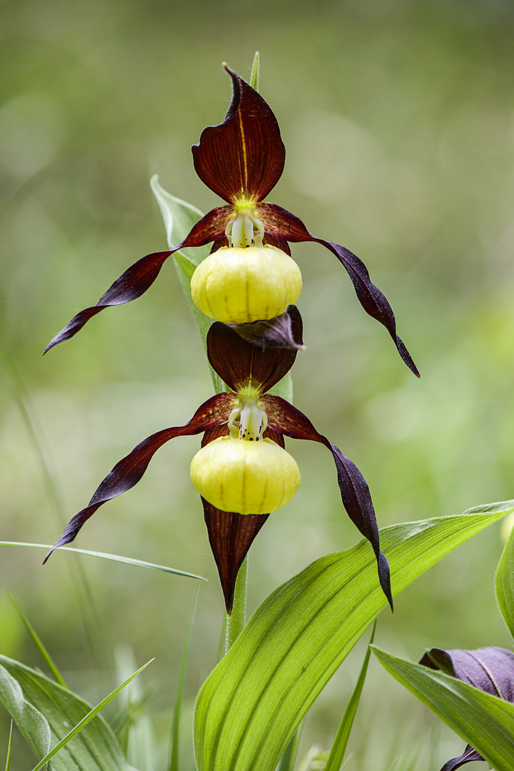
<svg viewBox="0 0 514 771">
<path fill-rule="evenodd" d="M 2 655 L 0 699 L 38 759 L 45 757 L 92 709 L 59 683 Z M 101 715 L 96 715 L 52 758 L 52 771 L 129 769 Z"/>
</svg>

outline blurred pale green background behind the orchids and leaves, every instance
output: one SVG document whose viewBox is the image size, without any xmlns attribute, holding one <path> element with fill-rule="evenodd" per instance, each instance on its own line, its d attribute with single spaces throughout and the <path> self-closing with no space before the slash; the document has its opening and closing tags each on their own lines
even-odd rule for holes
<svg viewBox="0 0 514 771">
<path fill-rule="evenodd" d="M 44 359 L 41 351 L 129 264 L 166 247 L 153 173 L 204 211 L 219 204 L 194 173 L 190 145 L 227 109 L 221 62 L 248 77 L 256 49 L 260 92 L 287 147 L 270 200 L 365 261 L 422 372 L 421 381 L 408 372 L 334 256 L 301 244 L 307 351 L 293 372 L 296 405 L 358 464 L 381 526 L 514 496 L 512 2 L 13 0 L 2 15 L 0 539 L 53 543 L 117 460 L 210 396 L 171 263 L 143 298 L 105 311 Z M 223 618 L 189 480 L 197 447 L 190 437 L 161 449 L 139 486 L 75 544 L 209 578 L 185 739 Z M 326 449 L 288 449 L 302 485 L 252 547 L 250 610 L 316 557 L 358 540 Z M 427 646 L 509 647 L 493 591 L 501 547 L 491 529 L 445 558 L 398 597 L 394 616 L 384 612 L 378 645 L 413 659 Z M 140 687 L 164 758 L 194 582 L 64 554 L 42 568 L 42 554 L 0 547 L 0 650 L 41 665 L 8 589 L 69 685 L 93 702 L 132 656 L 137 665 L 155 656 Z M 307 718 L 304 748 L 331 745 L 362 653 Z M 0 747 L 7 727 L 2 713 Z M 403 768 L 397 756 L 405 769 L 437 771 L 463 742 L 371 662 L 350 747 L 348 771 Z M 134 752 L 141 771 L 163 768 Z M 14 755 L 14 771 L 31 767 L 18 735 Z M 181 769 L 191 767 L 184 749 Z"/>
</svg>

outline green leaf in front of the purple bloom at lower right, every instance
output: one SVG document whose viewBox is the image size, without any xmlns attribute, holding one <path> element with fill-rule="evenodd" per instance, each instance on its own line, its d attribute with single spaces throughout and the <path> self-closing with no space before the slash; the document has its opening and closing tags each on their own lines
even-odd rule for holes
<svg viewBox="0 0 514 771">
<path fill-rule="evenodd" d="M 405 688 L 476 749 L 496 771 L 514 769 L 514 705 L 466 682 L 373 647 Z"/>
</svg>

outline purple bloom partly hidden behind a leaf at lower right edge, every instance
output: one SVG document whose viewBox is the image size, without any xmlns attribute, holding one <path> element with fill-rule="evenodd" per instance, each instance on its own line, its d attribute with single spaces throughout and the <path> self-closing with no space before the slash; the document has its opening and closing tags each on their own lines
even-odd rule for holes
<svg viewBox="0 0 514 771">
<path fill-rule="evenodd" d="M 461 648 L 442 651 L 440 648 L 432 648 L 422 656 L 419 663 L 431 669 L 440 669 L 447 675 L 474 685 L 485 693 L 514 704 L 514 653 L 512 651 L 507 651 L 505 648 L 478 648 L 475 651 L 465 651 Z M 483 760 L 483 758 L 479 752 L 468 745 L 461 756 L 448 760 L 441 771 L 455 771 L 473 760 Z"/>
</svg>

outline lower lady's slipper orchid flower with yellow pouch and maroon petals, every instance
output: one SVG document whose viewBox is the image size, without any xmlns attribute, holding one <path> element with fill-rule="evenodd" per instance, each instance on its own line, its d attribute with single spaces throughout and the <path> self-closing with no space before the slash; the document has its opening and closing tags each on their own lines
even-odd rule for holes
<svg viewBox="0 0 514 771">
<path fill-rule="evenodd" d="M 284 450 L 284 436 L 291 436 L 320 442 L 331 451 L 344 507 L 375 551 L 381 588 L 392 607 L 389 565 L 380 550 L 375 510 L 364 477 L 338 447 L 317 433 L 302 412 L 280 396 L 267 393 L 289 372 L 301 347 L 302 323 L 297 308 L 291 306 L 276 322 L 264 325 L 270 341 L 267 346 L 251 342 L 254 326 L 262 342 L 263 322 L 249 325 L 246 339 L 221 322 L 211 325 L 207 355 L 231 391 L 207 399 L 185 426 L 154 433 L 120 460 L 45 559 L 55 548 L 72 541 L 103 503 L 134 487 L 163 444 L 176 436 L 204 433 L 203 449 L 193 459 L 192 477 L 202 494 L 210 545 L 230 612 L 237 571 L 250 544 L 270 511 L 289 500 L 300 481 L 296 463 Z M 295 346 L 279 347 L 284 329 L 289 330 Z"/>
</svg>

